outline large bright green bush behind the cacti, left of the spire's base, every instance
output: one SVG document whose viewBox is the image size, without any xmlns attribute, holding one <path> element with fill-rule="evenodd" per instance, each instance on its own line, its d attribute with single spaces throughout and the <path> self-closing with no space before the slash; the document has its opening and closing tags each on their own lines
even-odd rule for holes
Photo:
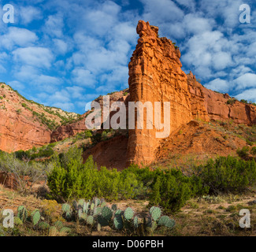
<svg viewBox="0 0 256 252">
<path fill-rule="evenodd" d="M 134 198 L 143 187 L 131 174 L 124 176 L 117 169 L 97 169 L 92 156 L 83 164 L 82 150 L 76 146 L 54 159 L 54 169 L 48 174 L 48 186 L 53 198 L 103 197 L 108 200 Z"/>
</svg>

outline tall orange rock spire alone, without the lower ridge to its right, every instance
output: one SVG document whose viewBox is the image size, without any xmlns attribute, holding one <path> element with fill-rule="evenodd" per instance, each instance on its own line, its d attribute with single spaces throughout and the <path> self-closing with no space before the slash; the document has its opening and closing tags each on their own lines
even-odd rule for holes
<svg viewBox="0 0 256 252">
<path fill-rule="evenodd" d="M 180 50 L 166 38 L 158 37 L 158 28 L 140 20 L 137 26 L 138 44 L 129 64 L 129 88 L 131 102 L 170 102 L 171 131 L 190 121 L 191 95 L 187 88 L 187 76 L 181 70 Z M 145 109 L 146 110 L 146 109 Z M 144 120 L 147 118 L 144 110 Z M 153 109 L 154 110 L 154 109 Z M 161 113 L 161 122 L 164 121 Z M 130 119 L 131 120 L 131 119 Z M 154 161 L 158 148 L 156 125 L 153 130 L 129 130 L 128 163 L 147 164 Z"/>
</svg>

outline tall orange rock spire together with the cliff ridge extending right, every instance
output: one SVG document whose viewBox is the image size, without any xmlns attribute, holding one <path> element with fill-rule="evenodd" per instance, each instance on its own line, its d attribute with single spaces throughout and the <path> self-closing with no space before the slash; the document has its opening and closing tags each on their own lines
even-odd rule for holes
<svg viewBox="0 0 256 252">
<path fill-rule="evenodd" d="M 138 44 L 129 64 L 131 102 L 161 102 L 161 105 L 170 102 L 171 132 L 193 119 L 256 124 L 256 106 L 202 87 L 192 72 L 186 75 L 181 70 L 180 50 L 169 39 L 159 38 L 157 27 L 140 20 L 137 33 Z M 232 102 L 228 102 L 230 100 Z M 145 123 L 144 129 L 129 130 L 128 164 L 154 161 L 161 140 L 156 138 L 155 132 L 155 125 L 153 130 L 147 130 Z"/>
</svg>

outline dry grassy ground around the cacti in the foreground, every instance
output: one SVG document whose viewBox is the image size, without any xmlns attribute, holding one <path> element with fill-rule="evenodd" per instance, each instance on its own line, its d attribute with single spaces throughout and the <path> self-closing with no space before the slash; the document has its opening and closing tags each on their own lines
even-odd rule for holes
<svg viewBox="0 0 256 252">
<path fill-rule="evenodd" d="M 254 236 L 256 235 L 256 191 L 248 191 L 243 195 L 219 195 L 204 196 L 193 198 L 187 202 L 180 212 L 173 214 L 172 218 L 176 221 L 176 226 L 168 231 L 165 228 L 158 229 L 154 235 L 171 236 Z M 147 213 L 148 202 L 146 201 L 121 201 L 115 202 L 119 209 L 130 206 L 135 213 Z M 40 209 L 43 213 L 43 221 L 54 225 L 56 221 L 61 221 L 65 227 L 70 228 L 71 232 L 60 232 L 54 228 L 42 230 L 33 227 L 32 224 L 15 224 L 13 230 L 5 230 L 4 235 L 21 236 L 121 236 L 121 232 L 113 231 L 111 228 L 102 228 L 100 232 L 91 230 L 86 225 L 76 222 L 67 222 L 61 217 L 61 205 L 55 201 L 37 198 L 35 195 L 22 196 L 17 191 L 11 191 L 0 187 L 0 213 L 3 209 L 13 209 L 14 215 L 17 214 L 17 207 L 26 206 L 28 212 Z M 109 204 L 110 205 L 110 204 Z M 240 209 L 250 210 L 250 228 L 240 228 L 239 216 Z M 0 216 L 0 220 L 1 220 Z M 1 227 L 0 223 L 0 227 Z M 1 228 L 0 228 L 1 229 Z"/>
</svg>

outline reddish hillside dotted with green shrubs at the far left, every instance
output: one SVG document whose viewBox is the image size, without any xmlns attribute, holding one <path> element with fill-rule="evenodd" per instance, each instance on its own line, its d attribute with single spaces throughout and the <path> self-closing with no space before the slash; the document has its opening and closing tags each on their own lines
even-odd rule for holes
<svg viewBox="0 0 256 252">
<path fill-rule="evenodd" d="M 28 150 L 50 143 L 51 132 L 79 115 L 29 101 L 0 83 L 0 150 Z"/>
</svg>

